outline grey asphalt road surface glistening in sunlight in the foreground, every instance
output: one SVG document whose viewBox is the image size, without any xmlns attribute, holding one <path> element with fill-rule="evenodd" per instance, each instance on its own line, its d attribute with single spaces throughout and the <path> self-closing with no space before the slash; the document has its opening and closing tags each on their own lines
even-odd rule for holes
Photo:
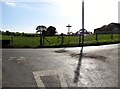
<svg viewBox="0 0 120 89">
<path fill-rule="evenodd" d="M 118 44 L 84 47 L 81 60 L 80 50 L 3 49 L 2 87 L 118 87 Z"/>
</svg>

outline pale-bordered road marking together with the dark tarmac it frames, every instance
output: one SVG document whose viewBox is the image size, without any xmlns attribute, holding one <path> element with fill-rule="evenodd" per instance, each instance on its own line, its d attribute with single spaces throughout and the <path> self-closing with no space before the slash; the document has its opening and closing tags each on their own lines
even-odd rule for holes
<svg viewBox="0 0 120 89">
<path fill-rule="evenodd" d="M 48 87 L 57 87 L 59 89 L 67 89 L 67 83 L 63 77 L 63 73 L 56 70 L 42 70 L 33 72 L 38 87 L 47 89 Z"/>
</svg>

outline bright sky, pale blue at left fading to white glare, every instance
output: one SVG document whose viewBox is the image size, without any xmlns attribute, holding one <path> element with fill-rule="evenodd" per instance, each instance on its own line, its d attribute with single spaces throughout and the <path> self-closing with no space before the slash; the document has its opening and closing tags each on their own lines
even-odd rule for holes
<svg viewBox="0 0 120 89">
<path fill-rule="evenodd" d="M 94 31 L 118 22 L 120 0 L 84 0 L 85 29 Z M 56 27 L 58 33 L 76 32 L 82 27 L 82 0 L 2 0 L 0 29 L 35 33 L 38 25 Z"/>
</svg>

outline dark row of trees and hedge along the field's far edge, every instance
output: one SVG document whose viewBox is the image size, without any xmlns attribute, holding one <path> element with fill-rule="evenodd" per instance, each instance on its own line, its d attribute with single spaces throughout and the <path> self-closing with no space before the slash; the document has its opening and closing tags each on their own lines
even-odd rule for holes
<svg viewBox="0 0 120 89">
<path fill-rule="evenodd" d="M 55 27 L 53 26 L 49 26 L 48 28 L 46 26 L 43 26 L 43 25 L 39 25 L 36 27 L 36 33 L 39 33 L 39 34 L 36 34 L 36 33 L 33 33 L 33 34 L 30 34 L 30 33 L 19 33 L 19 32 L 10 32 L 10 31 L 6 31 L 6 32 L 3 32 L 1 31 L 2 35 L 14 35 L 14 36 L 27 36 L 27 37 L 36 37 L 36 36 L 54 36 L 56 35 L 57 33 L 57 30 Z M 85 34 L 92 34 L 91 32 L 88 32 L 87 30 L 85 30 L 84 32 Z M 81 30 L 77 31 L 76 33 L 73 33 L 73 32 L 69 32 L 69 35 L 79 35 L 81 34 Z M 68 34 L 64 34 L 64 33 L 61 33 L 60 35 L 68 35 Z"/>
</svg>

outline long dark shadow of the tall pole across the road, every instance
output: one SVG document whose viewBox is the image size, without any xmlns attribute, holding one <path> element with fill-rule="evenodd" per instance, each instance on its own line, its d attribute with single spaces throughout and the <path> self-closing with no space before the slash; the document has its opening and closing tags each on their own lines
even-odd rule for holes
<svg viewBox="0 0 120 89">
<path fill-rule="evenodd" d="M 77 68 L 74 71 L 75 72 L 74 83 L 77 83 L 79 81 L 82 57 L 83 57 L 83 46 L 81 47 L 81 50 L 80 50 L 80 55 L 79 55 L 79 61 L 78 61 L 78 64 L 77 64 Z"/>
</svg>

